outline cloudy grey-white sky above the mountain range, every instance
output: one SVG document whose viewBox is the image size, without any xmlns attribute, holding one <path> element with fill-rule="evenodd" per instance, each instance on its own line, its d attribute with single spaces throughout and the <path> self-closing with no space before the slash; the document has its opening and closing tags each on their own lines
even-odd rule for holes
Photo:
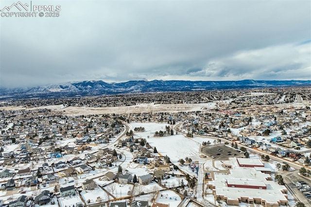
<svg viewBox="0 0 311 207">
<path fill-rule="evenodd" d="M 0 87 L 311 80 L 310 0 L 20 1 L 61 11 L 5 17 L 4 10 Z M 14 2 L 1 0 L 0 9 Z"/>
</svg>

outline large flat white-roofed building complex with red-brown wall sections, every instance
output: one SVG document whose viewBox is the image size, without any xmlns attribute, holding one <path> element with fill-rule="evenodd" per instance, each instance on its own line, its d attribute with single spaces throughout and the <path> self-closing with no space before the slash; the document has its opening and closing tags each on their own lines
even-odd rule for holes
<svg viewBox="0 0 311 207">
<path fill-rule="evenodd" d="M 232 167 L 229 174 L 215 173 L 214 180 L 207 184 L 215 200 L 235 206 L 241 202 L 264 207 L 288 205 L 286 187 L 274 182 L 269 173 L 260 171 L 264 165 L 259 159 L 229 158 L 229 163 Z"/>
</svg>

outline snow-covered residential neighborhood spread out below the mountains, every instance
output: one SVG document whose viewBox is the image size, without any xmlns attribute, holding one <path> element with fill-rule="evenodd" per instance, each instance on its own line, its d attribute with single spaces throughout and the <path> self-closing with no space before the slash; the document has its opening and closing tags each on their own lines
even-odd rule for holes
<svg viewBox="0 0 311 207">
<path fill-rule="evenodd" d="M 0 199 L 8 207 L 311 205 L 308 91 L 2 102 Z"/>
</svg>

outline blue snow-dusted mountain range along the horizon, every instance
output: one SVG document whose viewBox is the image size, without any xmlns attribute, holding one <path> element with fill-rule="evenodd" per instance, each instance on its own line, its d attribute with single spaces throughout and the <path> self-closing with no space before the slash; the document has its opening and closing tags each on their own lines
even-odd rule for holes
<svg viewBox="0 0 311 207">
<path fill-rule="evenodd" d="M 36 87 L 0 88 L 0 100 L 30 98 L 61 98 L 99 96 L 107 94 L 148 93 L 191 90 L 242 89 L 280 86 L 306 86 L 308 81 L 128 81 L 106 83 L 104 81 L 68 82 Z"/>
</svg>

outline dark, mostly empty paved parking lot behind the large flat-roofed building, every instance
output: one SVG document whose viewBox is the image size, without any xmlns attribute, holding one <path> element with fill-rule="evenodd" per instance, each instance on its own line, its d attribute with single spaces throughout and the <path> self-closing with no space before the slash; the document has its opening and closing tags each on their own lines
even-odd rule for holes
<svg viewBox="0 0 311 207">
<path fill-rule="evenodd" d="M 241 157 L 243 152 L 237 152 L 237 149 L 233 149 L 225 146 L 225 144 L 216 144 L 205 146 L 202 148 L 202 152 L 215 160 L 227 160 L 228 157 Z"/>
</svg>

